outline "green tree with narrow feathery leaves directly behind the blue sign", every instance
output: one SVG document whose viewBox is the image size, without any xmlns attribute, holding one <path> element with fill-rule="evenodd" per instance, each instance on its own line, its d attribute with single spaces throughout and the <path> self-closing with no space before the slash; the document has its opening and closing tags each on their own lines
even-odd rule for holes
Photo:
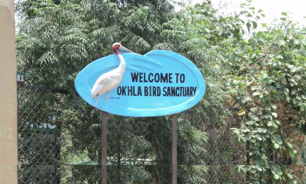
<svg viewBox="0 0 306 184">
<path fill-rule="evenodd" d="M 220 97 L 215 82 L 218 70 L 211 64 L 213 48 L 208 40 L 193 36 L 188 21 L 176 23 L 185 15 L 176 13 L 167 1 L 25 1 L 17 35 L 18 70 L 27 73 L 31 85 L 69 91 L 58 103 L 71 141 L 62 149 L 62 161 L 82 160 L 99 163 L 101 113 L 85 103 L 74 90 L 78 72 L 93 60 L 112 54 L 110 45 L 122 45 L 139 54 L 151 49 L 167 49 L 193 60 L 207 80 L 207 97 L 198 106 L 179 116 L 180 183 L 205 182 L 204 123 L 223 122 Z M 208 7 L 211 7 L 207 4 Z M 30 14 L 28 12 L 31 12 Z M 184 37 L 176 31 L 186 35 Z M 191 32 L 192 31 L 192 32 Z M 174 34 L 173 34 L 174 33 Z M 200 36 L 200 35 L 198 35 Z M 199 49 L 199 46 L 207 50 Z M 195 55 L 195 52 L 199 52 Z M 207 57 L 213 58 L 211 61 Z M 206 113 L 202 113 L 202 112 Z M 108 116 L 108 179 L 112 183 L 148 183 L 171 180 L 171 118 L 121 118 Z M 81 156 L 82 155 L 82 156 Z M 70 163 L 72 164 L 72 163 Z M 198 166 L 193 166 L 198 165 Z M 202 166 L 200 166 L 202 165 Z M 99 183 L 100 168 L 73 166 L 67 182 Z"/>
</svg>

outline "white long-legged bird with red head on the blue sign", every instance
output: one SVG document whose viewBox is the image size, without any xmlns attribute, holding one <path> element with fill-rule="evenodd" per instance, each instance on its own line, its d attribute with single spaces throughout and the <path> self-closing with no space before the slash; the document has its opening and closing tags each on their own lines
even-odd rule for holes
<svg viewBox="0 0 306 184">
<path fill-rule="evenodd" d="M 123 47 L 120 43 L 116 42 L 113 44 L 113 50 L 119 59 L 119 66 L 107 73 L 102 74 L 94 83 L 91 89 L 91 97 L 94 98 L 98 95 L 98 99 L 94 106 L 97 106 L 97 103 L 102 94 L 107 93 L 106 101 L 108 100 L 110 91 L 116 88 L 123 77 L 125 71 L 125 61 L 119 51 L 132 52 L 132 50 Z"/>
</svg>

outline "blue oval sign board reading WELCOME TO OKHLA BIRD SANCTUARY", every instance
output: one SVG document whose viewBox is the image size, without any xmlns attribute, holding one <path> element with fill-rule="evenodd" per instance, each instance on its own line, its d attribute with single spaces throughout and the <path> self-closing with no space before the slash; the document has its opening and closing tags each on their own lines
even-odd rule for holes
<svg viewBox="0 0 306 184">
<path fill-rule="evenodd" d="M 113 86 L 109 92 L 107 86 Z M 99 110 L 149 117 L 190 109 L 203 97 L 206 86 L 190 60 L 175 52 L 153 50 L 144 56 L 123 53 L 100 58 L 79 73 L 75 89 Z"/>
</svg>

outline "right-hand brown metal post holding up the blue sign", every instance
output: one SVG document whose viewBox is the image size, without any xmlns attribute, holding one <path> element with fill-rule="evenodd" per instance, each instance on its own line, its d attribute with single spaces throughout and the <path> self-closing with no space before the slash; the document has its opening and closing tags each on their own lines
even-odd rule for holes
<svg viewBox="0 0 306 184">
<path fill-rule="evenodd" d="M 177 117 L 176 117 L 176 114 L 173 114 L 172 115 L 172 184 L 177 183 L 177 176 L 176 176 L 176 170 L 177 170 L 176 124 L 177 124 Z"/>
</svg>

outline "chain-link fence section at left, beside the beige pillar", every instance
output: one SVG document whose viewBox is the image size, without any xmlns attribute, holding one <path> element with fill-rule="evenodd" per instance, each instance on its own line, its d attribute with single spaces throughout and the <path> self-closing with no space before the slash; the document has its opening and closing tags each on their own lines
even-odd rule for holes
<svg viewBox="0 0 306 184">
<path fill-rule="evenodd" d="M 56 120 L 57 94 L 41 87 L 17 89 L 18 181 L 59 183 L 61 126 Z"/>
</svg>

